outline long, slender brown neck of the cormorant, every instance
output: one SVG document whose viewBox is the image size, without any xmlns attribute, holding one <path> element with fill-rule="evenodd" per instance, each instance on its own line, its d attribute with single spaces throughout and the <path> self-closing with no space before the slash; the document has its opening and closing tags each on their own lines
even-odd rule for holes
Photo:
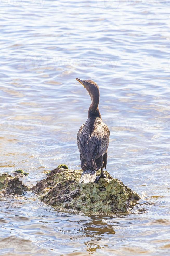
<svg viewBox="0 0 170 256">
<path fill-rule="evenodd" d="M 91 105 L 89 107 L 89 111 L 88 111 L 88 118 L 89 117 L 99 117 L 101 118 L 100 112 L 99 112 L 99 91 L 97 92 L 97 94 L 92 94 L 90 95 L 91 97 Z"/>
</svg>

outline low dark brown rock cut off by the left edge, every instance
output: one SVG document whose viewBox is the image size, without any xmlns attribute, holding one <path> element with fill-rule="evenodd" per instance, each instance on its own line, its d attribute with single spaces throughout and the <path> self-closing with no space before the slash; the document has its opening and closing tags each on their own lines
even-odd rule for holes
<svg viewBox="0 0 170 256">
<path fill-rule="evenodd" d="M 20 194 L 29 190 L 27 186 L 22 184 L 18 177 L 13 177 L 8 173 L 0 174 L 0 191 L 3 194 Z"/>
</svg>

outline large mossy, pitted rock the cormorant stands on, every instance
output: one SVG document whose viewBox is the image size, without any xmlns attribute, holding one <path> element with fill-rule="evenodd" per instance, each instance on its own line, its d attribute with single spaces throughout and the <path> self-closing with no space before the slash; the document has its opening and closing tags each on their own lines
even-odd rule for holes
<svg viewBox="0 0 170 256">
<path fill-rule="evenodd" d="M 100 172 L 99 172 L 100 173 Z M 85 212 L 121 213 L 140 196 L 105 171 L 106 179 L 95 183 L 80 183 L 82 170 L 56 168 L 32 190 L 48 205 Z"/>
</svg>

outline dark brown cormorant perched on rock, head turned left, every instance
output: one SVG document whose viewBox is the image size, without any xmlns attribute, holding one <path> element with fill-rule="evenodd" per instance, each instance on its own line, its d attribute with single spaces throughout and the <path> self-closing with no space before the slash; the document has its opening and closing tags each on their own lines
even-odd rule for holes
<svg viewBox="0 0 170 256">
<path fill-rule="evenodd" d="M 110 131 L 102 122 L 99 112 L 99 87 L 91 80 L 76 80 L 81 83 L 91 97 L 88 119 L 77 134 L 77 146 L 80 152 L 81 168 L 83 170 L 79 183 L 97 183 L 100 178 L 106 178 L 103 168 L 107 164 L 107 148 Z M 101 168 L 101 175 L 96 177 L 96 171 Z"/>
</svg>

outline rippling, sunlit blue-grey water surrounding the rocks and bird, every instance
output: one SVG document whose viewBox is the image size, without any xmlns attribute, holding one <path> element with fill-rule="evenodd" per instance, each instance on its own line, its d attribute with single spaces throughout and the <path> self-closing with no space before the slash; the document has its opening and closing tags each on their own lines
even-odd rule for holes
<svg viewBox="0 0 170 256">
<path fill-rule="evenodd" d="M 142 199 L 127 214 L 1 198 L 1 255 L 169 255 L 169 1 L 1 1 L 0 172 L 35 185 L 80 168 L 76 136 L 100 88 L 107 171 Z"/>
</svg>

